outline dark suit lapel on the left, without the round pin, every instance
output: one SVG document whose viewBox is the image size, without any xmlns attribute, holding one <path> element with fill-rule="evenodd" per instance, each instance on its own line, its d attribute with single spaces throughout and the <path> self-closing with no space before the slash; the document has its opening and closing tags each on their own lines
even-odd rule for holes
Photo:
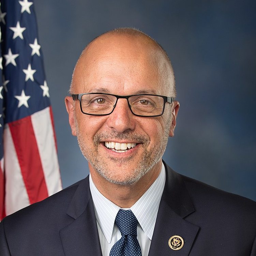
<svg viewBox="0 0 256 256">
<path fill-rule="evenodd" d="M 67 215 L 70 223 L 60 230 L 65 256 L 102 256 L 88 177 L 79 184 Z"/>
</svg>

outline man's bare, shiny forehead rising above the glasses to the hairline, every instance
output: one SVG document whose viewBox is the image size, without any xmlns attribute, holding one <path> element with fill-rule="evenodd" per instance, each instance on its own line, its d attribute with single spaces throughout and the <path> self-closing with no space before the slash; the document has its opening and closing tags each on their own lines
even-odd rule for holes
<svg viewBox="0 0 256 256">
<path fill-rule="evenodd" d="M 168 68 L 159 49 L 145 39 L 105 36 L 92 42 L 80 57 L 73 76 L 75 93 L 106 91 L 129 95 L 160 94 Z"/>
</svg>

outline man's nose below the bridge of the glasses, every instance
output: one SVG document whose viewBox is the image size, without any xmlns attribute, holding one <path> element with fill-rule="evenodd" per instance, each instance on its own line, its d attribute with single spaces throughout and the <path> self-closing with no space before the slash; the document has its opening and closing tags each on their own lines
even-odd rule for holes
<svg viewBox="0 0 256 256">
<path fill-rule="evenodd" d="M 135 120 L 126 99 L 118 99 L 114 111 L 108 116 L 107 125 L 122 133 L 135 129 Z"/>
</svg>

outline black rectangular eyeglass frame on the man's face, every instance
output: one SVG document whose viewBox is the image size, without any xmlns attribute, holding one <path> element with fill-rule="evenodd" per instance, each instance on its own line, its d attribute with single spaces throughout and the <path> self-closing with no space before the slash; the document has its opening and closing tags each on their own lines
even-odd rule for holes
<svg viewBox="0 0 256 256">
<path fill-rule="evenodd" d="M 110 93 L 99 93 L 99 92 L 89 92 L 89 93 L 71 94 L 72 99 L 73 99 L 74 101 L 79 100 L 81 112 L 82 112 L 83 114 L 85 114 L 85 115 L 90 115 L 90 116 L 108 116 L 108 115 L 110 115 L 110 114 L 114 111 L 114 109 L 115 109 L 115 107 L 116 107 L 116 105 L 117 105 L 117 101 L 116 101 L 116 103 L 115 103 L 115 105 L 114 105 L 112 111 L 111 111 L 109 114 L 89 114 L 89 113 L 85 113 L 84 111 L 82 111 L 81 97 L 82 97 L 83 95 L 86 95 L 86 94 L 111 95 L 111 96 L 115 96 L 115 97 L 117 98 L 117 101 L 118 101 L 118 99 L 126 99 L 127 102 L 128 102 L 128 106 L 129 106 L 129 108 L 130 108 L 132 114 L 135 115 L 135 116 L 138 116 L 138 117 L 160 117 L 160 116 L 162 116 L 162 115 L 164 114 L 165 103 L 168 102 L 168 103 L 171 104 L 172 102 L 174 102 L 174 99 L 175 99 L 174 97 L 168 97 L 168 96 L 162 96 L 162 95 L 156 95 L 156 94 L 134 94 L 134 95 L 128 95 L 128 96 L 120 96 L 120 95 L 115 95 L 115 94 L 110 94 Z M 162 113 L 161 113 L 160 115 L 155 115 L 155 116 L 142 116 L 142 115 L 134 114 L 134 112 L 132 111 L 132 108 L 131 108 L 131 105 L 130 105 L 128 99 L 129 99 L 129 97 L 131 97 L 131 96 L 142 96 L 142 95 L 159 96 L 159 97 L 162 97 L 162 98 L 164 99 L 164 107 L 163 107 Z"/>
</svg>

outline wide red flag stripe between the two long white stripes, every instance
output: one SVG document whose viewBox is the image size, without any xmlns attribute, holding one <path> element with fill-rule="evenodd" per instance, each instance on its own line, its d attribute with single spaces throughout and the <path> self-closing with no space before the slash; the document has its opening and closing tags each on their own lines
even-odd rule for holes
<svg viewBox="0 0 256 256">
<path fill-rule="evenodd" d="M 48 197 L 43 167 L 30 116 L 9 123 L 30 204 Z"/>
</svg>

